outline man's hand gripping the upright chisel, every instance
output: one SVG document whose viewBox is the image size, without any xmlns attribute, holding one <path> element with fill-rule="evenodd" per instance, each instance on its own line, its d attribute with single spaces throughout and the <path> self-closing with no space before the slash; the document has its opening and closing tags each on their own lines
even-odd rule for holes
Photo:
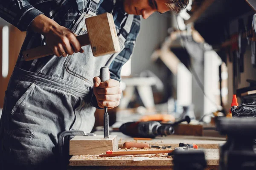
<svg viewBox="0 0 256 170">
<path fill-rule="evenodd" d="M 96 96 L 100 108 L 115 108 L 119 105 L 122 90 L 119 88 L 119 81 L 109 79 L 101 82 L 99 77 L 93 79 L 93 93 Z"/>
</svg>

